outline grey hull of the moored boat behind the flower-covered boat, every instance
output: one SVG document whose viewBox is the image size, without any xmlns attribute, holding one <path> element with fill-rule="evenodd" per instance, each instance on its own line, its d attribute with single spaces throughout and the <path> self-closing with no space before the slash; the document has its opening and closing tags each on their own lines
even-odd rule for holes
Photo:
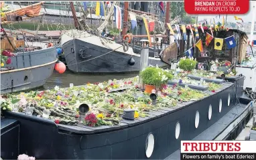
<svg viewBox="0 0 256 160">
<path fill-rule="evenodd" d="M 101 43 L 101 41 L 99 41 Z M 123 47 L 121 44 L 117 44 Z M 68 69 L 76 73 L 126 73 L 139 71 L 140 55 L 113 51 L 107 47 L 101 47 L 87 43 L 80 39 L 72 39 L 62 45 Z M 80 56 L 82 53 L 82 56 Z M 133 55 L 133 56 L 132 56 Z M 131 57 L 134 65 L 129 65 Z M 149 57 L 150 65 L 165 67 L 167 64 L 159 58 Z"/>
</svg>

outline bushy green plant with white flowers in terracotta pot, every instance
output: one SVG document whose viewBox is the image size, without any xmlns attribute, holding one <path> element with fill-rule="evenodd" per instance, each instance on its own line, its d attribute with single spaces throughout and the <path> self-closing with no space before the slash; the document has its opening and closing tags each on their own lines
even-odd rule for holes
<svg viewBox="0 0 256 160">
<path fill-rule="evenodd" d="M 147 67 L 141 72 L 141 79 L 145 84 L 145 93 L 151 93 L 153 89 L 162 89 L 169 80 L 172 79 L 172 73 L 158 67 Z"/>
</svg>

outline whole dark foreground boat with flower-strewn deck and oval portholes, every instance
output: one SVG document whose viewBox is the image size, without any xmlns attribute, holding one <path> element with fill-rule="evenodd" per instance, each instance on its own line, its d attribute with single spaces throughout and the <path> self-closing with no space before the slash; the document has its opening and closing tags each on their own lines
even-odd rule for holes
<svg viewBox="0 0 256 160">
<path fill-rule="evenodd" d="M 237 83 L 244 79 L 212 87 L 214 75 L 208 77 L 212 82 L 204 82 L 204 77 L 189 79 L 188 74 L 198 76 L 200 72 L 153 71 L 151 84 L 159 82 L 158 75 L 172 78 L 160 80 L 165 83 L 155 88 L 156 101 L 150 98 L 151 93 L 139 89 L 139 79 L 133 77 L 7 94 L 1 98 L 1 107 L 12 110 L 3 112 L 5 118 L 22 125 L 21 153 L 36 159 L 164 159 L 179 149 L 181 140 L 193 139 L 229 112 L 241 91 Z M 198 86 L 208 85 L 208 90 L 168 84 L 174 80 L 198 81 Z M 88 106 L 84 115 L 81 105 Z M 125 111 L 134 111 L 132 120 L 125 119 Z M 54 152 L 49 153 L 52 147 Z"/>
</svg>

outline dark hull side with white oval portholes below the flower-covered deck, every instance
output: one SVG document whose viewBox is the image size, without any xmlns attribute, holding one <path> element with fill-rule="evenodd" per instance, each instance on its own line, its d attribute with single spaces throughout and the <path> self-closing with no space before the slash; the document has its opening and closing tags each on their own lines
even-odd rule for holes
<svg viewBox="0 0 256 160">
<path fill-rule="evenodd" d="M 209 91 L 210 96 L 199 101 L 151 111 L 149 117 L 123 120 L 117 127 L 56 125 L 53 121 L 20 113 L 6 112 L 4 115 L 21 123 L 20 153 L 36 159 L 147 159 L 145 143 L 149 133 L 154 137 L 149 159 L 165 159 L 180 148 L 181 140 L 193 139 L 235 106 L 237 96 L 243 91 L 243 79 L 225 83 L 217 93 Z M 212 115 L 209 120 L 210 105 Z M 196 111 L 200 114 L 197 128 Z M 177 123 L 180 123 L 178 139 Z"/>
</svg>

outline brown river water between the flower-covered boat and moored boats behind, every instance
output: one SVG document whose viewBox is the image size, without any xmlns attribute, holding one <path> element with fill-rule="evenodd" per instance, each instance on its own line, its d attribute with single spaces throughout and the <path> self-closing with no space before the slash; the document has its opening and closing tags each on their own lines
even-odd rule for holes
<svg viewBox="0 0 256 160">
<path fill-rule="evenodd" d="M 120 74 L 110 74 L 110 75 L 85 75 L 85 74 L 77 74 L 72 73 L 68 69 L 62 74 L 56 72 L 46 81 L 46 84 L 40 89 L 52 89 L 56 85 L 59 87 L 69 87 L 70 83 L 75 85 L 84 85 L 86 83 L 96 83 L 96 82 L 103 82 L 108 81 L 109 79 L 125 79 L 129 77 L 135 77 L 139 73 L 120 73 Z"/>
</svg>

